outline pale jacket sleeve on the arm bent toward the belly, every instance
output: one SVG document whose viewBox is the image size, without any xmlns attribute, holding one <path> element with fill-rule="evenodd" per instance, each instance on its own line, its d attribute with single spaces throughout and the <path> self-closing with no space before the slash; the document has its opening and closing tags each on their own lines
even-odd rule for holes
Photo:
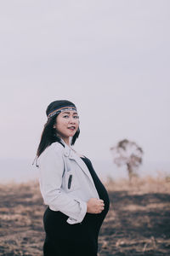
<svg viewBox="0 0 170 256">
<path fill-rule="evenodd" d="M 39 183 L 43 201 L 54 211 L 63 212 L 67 223 L 81 223 L 87 212 L 85 201 L 74 199 L 61 189 L 64 160 L 62 152 L 49 147 L 39 160 Z"/>
</svg>

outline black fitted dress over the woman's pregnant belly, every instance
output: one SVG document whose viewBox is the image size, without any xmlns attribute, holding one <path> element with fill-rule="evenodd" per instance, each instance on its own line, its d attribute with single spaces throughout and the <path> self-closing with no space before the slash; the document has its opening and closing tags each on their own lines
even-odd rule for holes
<svg viewBox="0 0 170 256">
<path fill-rule="evenodd" d="M 68 224 L 62 212 L 46 209 L 43 215 L 46 238 L 44 256 L 97 256 L 99 229 L 109 211 L 109 196 L 94 171 L 91 161 L 82 158 L 93 177 L 99 198 L 105 202 L 105 210 L 99 214 L 86 213 L 80 224 Z"/>
</svg>

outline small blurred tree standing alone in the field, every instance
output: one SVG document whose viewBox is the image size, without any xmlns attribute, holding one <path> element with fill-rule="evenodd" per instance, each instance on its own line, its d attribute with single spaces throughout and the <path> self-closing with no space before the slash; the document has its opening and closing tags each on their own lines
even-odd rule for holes
<svg viewBox="0 0 170 256">
<path fill-rule="evenodd" d="M 111 153 L 116 166 L 127 166 L 128 177 L 131 180 L 142 164 L 143 149 L 137 143 L 124 139 L 117 143 L 115 147 L 111 147 Z"/>
</svg>

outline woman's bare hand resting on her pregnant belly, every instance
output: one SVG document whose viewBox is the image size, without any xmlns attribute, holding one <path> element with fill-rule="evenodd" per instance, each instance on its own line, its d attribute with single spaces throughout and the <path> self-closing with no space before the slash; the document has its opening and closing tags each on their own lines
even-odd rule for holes
<svg viewBox="0 0 170 256">
<path fill-rule="evenodd" d="M 90 198 L 87 202 L 88 213 L 100 213 L 105 209 L 104 201 L 97 198 Z"/>
</svg>

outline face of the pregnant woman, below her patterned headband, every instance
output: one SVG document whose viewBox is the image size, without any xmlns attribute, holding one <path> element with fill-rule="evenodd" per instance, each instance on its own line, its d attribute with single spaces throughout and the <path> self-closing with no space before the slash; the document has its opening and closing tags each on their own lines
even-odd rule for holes
<svg viewBox="0 0 170 256">
<path fill-rule="evenodd" d="M 73 137 L 79 126 L 79 117 L 76 111 L 65 110 L 59 113 L 56 118 L 54 128 L 57 130 L 57 135 L 65 139 Z"/>
</svg>

